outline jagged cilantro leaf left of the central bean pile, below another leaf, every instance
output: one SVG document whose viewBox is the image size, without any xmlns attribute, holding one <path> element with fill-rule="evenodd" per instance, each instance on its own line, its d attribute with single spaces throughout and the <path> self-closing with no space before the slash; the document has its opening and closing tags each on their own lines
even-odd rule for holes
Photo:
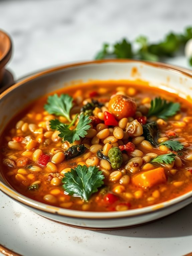
<svg viewBox="0 0 192 256">
<path fill-rule="evenodd" d="M 89 119 L 89 116 L 81 114 L 79 122 L 73 130 L 69 129 L 72 123 L 70 125 L 60 123 L 57 125 L 57 131 L 60 132 L 58 136 L 69 143 L 73 143 L 75 140 L 79 140 L 80 137 L 83 138 L 87 134 L 86 130 L 90 129 L 90 125 L 88 125 L 90 122 L 91 119 Z"/>
</svg>

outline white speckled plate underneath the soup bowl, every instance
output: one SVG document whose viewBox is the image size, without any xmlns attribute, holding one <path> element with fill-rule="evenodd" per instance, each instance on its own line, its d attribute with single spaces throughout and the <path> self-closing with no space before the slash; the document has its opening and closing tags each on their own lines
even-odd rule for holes
<svg viewBox="0 0 192 256">
<path fill-rule="evenodd" d="M 2 192 L 0 202 L 0 244 L 23 256 L 181 256 L 192 251 L 192 204 L 137 228 L 90 231 L 49 221 Z"/>
</svg>

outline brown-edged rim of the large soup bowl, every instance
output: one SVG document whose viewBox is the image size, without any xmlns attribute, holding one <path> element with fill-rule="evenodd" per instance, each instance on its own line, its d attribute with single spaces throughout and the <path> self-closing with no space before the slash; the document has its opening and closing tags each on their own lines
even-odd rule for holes
<svg viewBox="0 0 192 256">
<path fill-rule="evenodd" d="M 153 66 L 160 69 L 169 70 L 170 72 L 178 73 L 180 75 L 187 76 L 189 78 L 192 78 L 192 75 L 190 75 L 188 72 L 191 72 L 190 70 L 186 70 L 180 67 L 176 67 L 173 65 L 168 65 L 160 62 L 148 62 L 148 61 L 141 61 L 141 60 L 132 60 L 132 59 L 107 59 L 107 60 L 94 60 L 94 61 L 85 61 L 85 62 L 77 62 L 72 63 L 68 65 L 62 65 L 62 66 L 56 66 L 53 68 L 46 69 L 44 71 L 37 72 L 34 75 L 29 75 L 29 77 L 23 79 L 22 81 L 16 83 L 15 85 L 12 85 L 8 89 L 6 89 L 4 92 L 1 93 L 0 99 L 2 99 L 5 95 L 10 93 L 12 90 L 17 88 L 20 85 L 23 85 L 24 83 L 31 81 L 35 78 L 41 77 L 46 74 L 53 73 L 55 71 L 78 67 L 78 66 L 87 66 L 92 64 L 101 64 L 101 63 L 110 63 L 110 62 L 135 62 L 135 63 L 141 63 L 143 65 Z M 147 206 L 139 209 L 132 209 L 127 211 L 119 211 L 119 212 L 84 212 L 84 211 L 77 211 L 77 210 L 70 210 L 70 209 L 64 209 L 60 207 L 51 206 L 48 204 L 44 204 L 38 201 L 35 201 L 33 199 L 30 199 L 28 197 L 25 197 L 24 195 L 18 193 L 16 190 L 8 187 L 5 185 L 2 181 L 0 181 L 0 190 L 5 193 L 7 196 L 12 198 L 15 201 L 18 201 L 28 207 L 34 208 L 38 211 L 47 212 L 50 214 L 60 215 L 60 216 L 66 216 L 71 218 L 79 218 L 79 219 L 121 219 L 121 218 L 127 218 L 127 217 L 136 217 L 140 215 L 146 215 L 149 213 L 154 213 L 157 211 L 162 211 L 165 208 L 169 208 L 177 203 L 183 202 L 187 199 L 190 199 L 192 197 L 192 191 L 189 191 L 179 197 L 173 198 L 171 200 L 161 202 L 159 204 L 155 204 L 152 206 Z"/>
</svg>

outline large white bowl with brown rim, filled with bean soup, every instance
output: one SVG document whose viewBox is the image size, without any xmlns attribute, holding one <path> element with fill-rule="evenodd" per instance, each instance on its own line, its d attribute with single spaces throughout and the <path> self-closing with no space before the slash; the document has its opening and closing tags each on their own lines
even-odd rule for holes
<svg viewBox="0 0 192 256">
<path fill-rule="evenodd" d="M 135 60 L 43 71 L 0 95 L 0 189 L 48 219 L 140 225 L 192 202 L 192 76 Z"/>
</svg>

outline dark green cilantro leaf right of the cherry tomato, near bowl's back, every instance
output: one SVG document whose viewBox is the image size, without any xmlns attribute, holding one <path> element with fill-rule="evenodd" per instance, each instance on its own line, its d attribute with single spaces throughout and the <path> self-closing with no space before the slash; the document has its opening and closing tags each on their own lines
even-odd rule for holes
<svg viewBox="0 0 192 256">
<path fill-rule="evenodd" d="M 179 110 L 179 103 L 167 102 L 159 97 L 151 101 L 151 107 L 147 116 L 157 116 L 158 118 L 167 119 L 170 116 L 174 116 Z"/>
</svg>

